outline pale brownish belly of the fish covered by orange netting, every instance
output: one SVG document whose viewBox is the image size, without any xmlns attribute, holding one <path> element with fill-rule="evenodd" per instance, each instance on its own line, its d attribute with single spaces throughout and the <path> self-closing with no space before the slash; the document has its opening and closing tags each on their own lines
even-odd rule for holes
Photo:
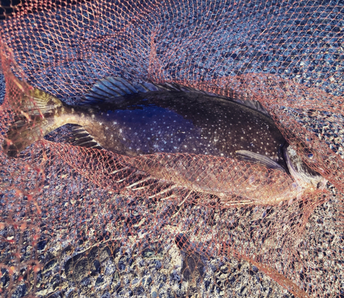
<svg viewBox="0 0 344 298">
<path fill-rule="evenodd" d="M 133 166 L 177 187 L 214 194 L 224 206 L 277 205 L 303 193 L 291 176 L 236 159 L 193 154 L 151 154 Z"/>
</svg>

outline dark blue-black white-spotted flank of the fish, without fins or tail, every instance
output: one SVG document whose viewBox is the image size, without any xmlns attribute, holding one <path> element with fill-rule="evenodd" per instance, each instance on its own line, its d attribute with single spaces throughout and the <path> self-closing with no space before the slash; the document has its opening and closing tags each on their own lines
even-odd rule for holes
<svg viewBox="0 0 344 298">
<path fill-rule="evenodd" d="M 75 107 L 74 107 L 75 108 Z M 235 157 L 249 150 L 281 161 L 286 140 L 268 116 L 204 93 L 150 91 L 94 104 L 83 127 L 101 147 L 136 156 L 155 152 Z"/>
</svg>

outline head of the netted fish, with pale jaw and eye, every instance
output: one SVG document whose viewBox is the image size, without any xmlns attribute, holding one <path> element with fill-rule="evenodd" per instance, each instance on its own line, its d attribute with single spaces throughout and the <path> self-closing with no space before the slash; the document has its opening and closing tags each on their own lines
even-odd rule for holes
<svg viewBox="0 0 344 298">
<path fill-rule="evenodd" d="M 284 150 L 284 157 L 290 174 L 303 190 L 323 190 L 325 188 L 327 179 L 308 165 L 319 165 L 317 162 L 319 157 L 316 153 L 307 148 L 288 146 Z"/>
</svg>

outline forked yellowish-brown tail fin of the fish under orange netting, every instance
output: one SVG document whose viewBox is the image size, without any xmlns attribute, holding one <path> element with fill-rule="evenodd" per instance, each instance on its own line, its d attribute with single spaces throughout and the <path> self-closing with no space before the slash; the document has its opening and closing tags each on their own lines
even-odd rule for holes
<svg viewBox="0 0 344 298">
<path fill-rule="evenodd" d="M 8 73 L 6 93 L 14 111 L 14 123 L 10 126 L 3 150 L 9 157 L 16 157 L 27 146 L 50 133 L 54 127 L 54 115 L 63 106 L 61 100 L 45 93 Z"/>
</svg>

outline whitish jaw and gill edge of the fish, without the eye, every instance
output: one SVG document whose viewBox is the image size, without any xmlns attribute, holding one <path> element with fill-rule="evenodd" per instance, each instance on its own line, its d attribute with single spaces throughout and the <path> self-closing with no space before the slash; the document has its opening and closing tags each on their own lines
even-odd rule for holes
<svg viewBox="0 0 344 298">
<path fill-rule="evenodd" d="M 297 154 L 297 150 L 292 146 L 288 146 L 284 150 L 284 158 L 291 176 L 304 190 L 323 190 L 325 188 L 327 179 L 304 163 Z"/>
</svg>

